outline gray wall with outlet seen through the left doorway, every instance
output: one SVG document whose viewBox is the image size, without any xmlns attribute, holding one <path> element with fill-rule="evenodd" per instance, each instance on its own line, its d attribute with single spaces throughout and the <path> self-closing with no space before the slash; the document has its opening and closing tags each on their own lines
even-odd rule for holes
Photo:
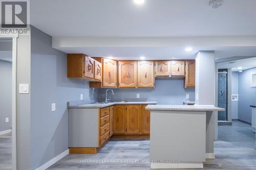
<svg viewBox="0 0 256 170">
<path fill-rule="evenodd" d="M 0 132 L 12 127 L 12 63 L 0 60 Z M 5 118 L 9 122 L 5 123 Z"/>
</svg>

